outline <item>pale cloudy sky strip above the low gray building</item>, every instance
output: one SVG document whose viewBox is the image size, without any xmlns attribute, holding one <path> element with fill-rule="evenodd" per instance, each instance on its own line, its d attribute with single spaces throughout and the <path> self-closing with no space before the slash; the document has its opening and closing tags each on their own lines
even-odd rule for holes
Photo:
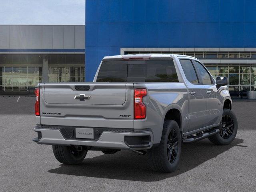
<svg viewBox="0 0 256 192">
<path fill-rule="evenodd" d="M 84 25 L 85 0 L 0 0 L 0 25 Z"/>
</svg>

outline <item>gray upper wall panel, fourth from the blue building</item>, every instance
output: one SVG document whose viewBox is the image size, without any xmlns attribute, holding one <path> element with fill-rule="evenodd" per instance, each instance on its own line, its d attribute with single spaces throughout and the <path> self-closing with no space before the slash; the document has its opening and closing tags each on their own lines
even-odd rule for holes
<svg viewBox="0 0 256 192">
<path fill-rule="evenodd" d="M 42 26 L 42 48 L 52 49 L 53 26 Z"/>
</svg>

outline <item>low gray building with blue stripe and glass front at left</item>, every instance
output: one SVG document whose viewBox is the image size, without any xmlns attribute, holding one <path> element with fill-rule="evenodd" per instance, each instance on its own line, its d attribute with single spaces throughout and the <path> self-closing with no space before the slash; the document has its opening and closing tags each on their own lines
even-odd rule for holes
<svg viewBox="0 0 256 192">
<path fill-rule="evenodd" d="M 84 25 L 0 25 L 0 94 L 38 82 L 84 82 Z"/>
</svg>

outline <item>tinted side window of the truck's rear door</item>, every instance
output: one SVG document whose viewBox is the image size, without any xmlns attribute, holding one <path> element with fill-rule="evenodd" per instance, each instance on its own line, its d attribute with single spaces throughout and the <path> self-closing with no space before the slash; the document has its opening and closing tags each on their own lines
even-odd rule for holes
<svg viewBox="0 0 256 192">
<path fill-rule="evenodd" d="M 198 79 L 196 76 L 196 71 L 191 60 L 188 59 L 180 59 L 180 64 L 185 73 L 187 80 L 192 84 L 198 84 Z"/>
</svg>

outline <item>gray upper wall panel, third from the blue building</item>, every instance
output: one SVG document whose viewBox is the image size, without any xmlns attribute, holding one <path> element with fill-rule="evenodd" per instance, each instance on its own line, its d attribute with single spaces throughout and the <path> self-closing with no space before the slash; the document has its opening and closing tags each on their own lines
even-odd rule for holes
<svg viewBox="0 0 256 192">
<path fill-rule="evenodd" d="M 64 48 L 64 26 L 53 26 L 53 48 Z"/>
</svg>

